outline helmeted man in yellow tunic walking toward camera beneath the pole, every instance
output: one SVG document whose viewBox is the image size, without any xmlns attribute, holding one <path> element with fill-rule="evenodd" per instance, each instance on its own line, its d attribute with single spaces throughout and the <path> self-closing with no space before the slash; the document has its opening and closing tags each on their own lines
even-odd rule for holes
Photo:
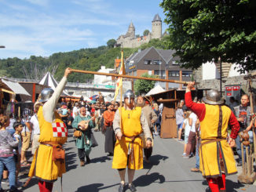
<svg viewBox="0 0 256 192">
<path fill-rule="evenodd" d="M 151 132 L 148 122 L 141 107 L 134 107 L 134 94 L 128 90 L 124 95 L 124 107 L 115 112 L 113 129 L 117 141 L 115 143 L 112 168 L 117 168 L 121 183 L 119 192 L 124 191 L 126 167 L 128 167 L 129 189 L 133 192 L 136 188 L 133 185 L 134 172 L 143 168 L 143 147 L 141 132 L 147 138 L 147 147 L 152 146 Z"/>
</svg>

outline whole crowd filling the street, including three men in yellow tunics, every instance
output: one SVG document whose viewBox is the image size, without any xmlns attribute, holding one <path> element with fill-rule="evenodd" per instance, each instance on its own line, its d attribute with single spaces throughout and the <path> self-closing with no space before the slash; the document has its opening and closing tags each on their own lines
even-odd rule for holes
<svg viewBox="0 0 256 192">
<path fill-rule="evenodd" d="M 6 116 L 0 111 L 0 180 L 9 182 L 9 191 L 21 191 L 18 187 L 27 183 L 19 181 L 20 167 L 30 167 L 28 176 L 38 178 L 39 190 L 52 191 L 53 182 L 66 172 L 62 146 L 68 139 L 68 129 L 74 131 L 80 166 L 90 164 L 90 152 L 98 145 L 93 131 L 101 131 L 105 137 L 104 152 L 113 156 L 112 168 L 119 172 L 119 192 L 125 189 L 126 168 L 128 188 L 136 191 L 134 172 L 143 168 L 143 161 L 150 162 L 153 139 L 161 133 L 163 106 L 149 103 L 143 96 L 135 98 L 131 90 L 124 94 L 122 102 L 58 103 L 70 73 L 69 69 L 65 71 L 54 92 L 43 89 L 34 111 L 24 110 L 24 118 Z M 254 122 L 249 98 L 243 95 L 240 104 L 230 98 L 227 107 L 218 92 L 210 90 L 202 101 L 193 102 L 192 87 L 191 82 L 185 100 L 177 103 L 175 115 L 177 139 L 185 143 L 182 156 L 187 159 L 196 156 L 191 171 L 202 172 L 212 191 L 224 191 L 225 176 L 236 173 L 236 165 L 242 165 L 238 132 L 250 132 L 252 142 Z M 237 164 L 230 148 L 234 143 L 239 157 Z M 27 161 L 30 147 L 34 156 L 31 162 Z"/>
</svg>

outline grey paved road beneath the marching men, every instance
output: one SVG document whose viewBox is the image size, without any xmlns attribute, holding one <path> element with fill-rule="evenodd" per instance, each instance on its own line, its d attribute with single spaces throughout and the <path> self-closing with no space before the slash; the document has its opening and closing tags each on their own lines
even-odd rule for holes
<svg viewBox="0 0 256 192">
<path fill-rule="evenodd" d="M 94 132 L 99 143 L 93 148 L 90 158 L 91 163 L 84 167 L 79 166 L 79 158 L 75 141 L 69 133 L 68 143 L 65 145 L 67 154 L 67 173 L 63 176 L 64 192 L 115 192 L 119 187 L 119 175 L 112 169 L 112 158 L 104 153 L 104 136 L 101 132 Z M 207 191 L 207 182 L 201 173 L 190 172 L 195 165 L 196 158 L 184 159 L 181 157 L 183 143 L 177 139 L 155 138 L 152 164 L 144 164 L 144 169 L 138 170 L 134 176 L 134 185 L 139 192 L 183 192 Z M 25 181 L 26 175 L 21 175 L 20 180 Z M 127 176 L 126 176 L 127 179 Z M 232 191 L 256 191 L 254 185 L 244 185 L 236 182 L 237 176 L 229 176 L 227 185 Z M 127 180 L 126 180 L 127 182 Z M 5 186 L 4 186 L 5 187 Z M 37 179 L 33 178 L 25 192 L 38 191 Z M 54 183 L 53 192 L 60 192 L 60 179 Z M 130 190 L 126 190 L 130 191 Z"/>
</svg>

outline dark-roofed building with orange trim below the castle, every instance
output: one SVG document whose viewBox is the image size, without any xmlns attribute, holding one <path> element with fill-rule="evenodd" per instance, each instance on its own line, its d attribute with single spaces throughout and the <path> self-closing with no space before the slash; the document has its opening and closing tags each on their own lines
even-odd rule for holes
<svg viewBox="0 0 256 192">
<path fill-rule="evenodd" d="M 181 68 L 173 56 L 174 50 L 155 49 L 154 47 L 133 53 L 125 61 L 126 74 L 140 77 L 142 74 L 152 74 L 158 78 L 191 81 L 192 70 Z M 181 85 L 175 83 L 158 82 L 164 89 L 178 88 Z"/>
</svg>

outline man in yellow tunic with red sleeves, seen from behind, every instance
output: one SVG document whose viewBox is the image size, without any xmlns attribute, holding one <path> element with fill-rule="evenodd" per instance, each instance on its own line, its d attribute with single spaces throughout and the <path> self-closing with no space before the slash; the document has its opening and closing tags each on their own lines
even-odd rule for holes
<svg viewBox="0 0 256 192">
<path fill-rule="evenodd" d="M 211 89 L 203 97 L 203 103 L 192 102 L 191 89 L 194 82 L 189 82 L 185 103 L 199 118 L 201 146 L 199 150 L 200 171 L 207 178 L 212 192 L 226 191 L 225 176 L 236 173 L 236 161 L 231 147 L 234 147 L 240 125 L 235 114 L 226 107 L 218 91 Z M 232 129 L 228 137 L 228 125 Z"/>
</svg>

